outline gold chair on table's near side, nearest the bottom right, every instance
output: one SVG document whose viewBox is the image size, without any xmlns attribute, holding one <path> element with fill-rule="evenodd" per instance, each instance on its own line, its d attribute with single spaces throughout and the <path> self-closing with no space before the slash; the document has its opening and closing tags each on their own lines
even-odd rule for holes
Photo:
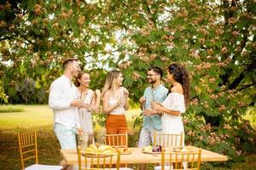
<svg viewBox="0 0 256 170">
<path fill-rule="evenodd" d="M 165 152 L 164 150 L 162 150 L 161 166 L 154 167 L 154 170 L 199 170 L 200 167 L 201 148 L 199 150 L 188 150 L 178 152 Z"/>
</svg>

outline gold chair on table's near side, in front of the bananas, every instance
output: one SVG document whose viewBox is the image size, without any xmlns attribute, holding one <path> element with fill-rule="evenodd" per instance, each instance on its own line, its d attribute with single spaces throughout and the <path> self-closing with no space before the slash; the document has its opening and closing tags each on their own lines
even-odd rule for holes
<svg viewBox="0 0 256 170">
<path fill-rule="evenodd" d="M 79 170 L 116 169 L 119 170 L 120 153 L 86 152 L 78 146 Z M 115 166 L 115 168 L 113 168 Z"/>
</svg>

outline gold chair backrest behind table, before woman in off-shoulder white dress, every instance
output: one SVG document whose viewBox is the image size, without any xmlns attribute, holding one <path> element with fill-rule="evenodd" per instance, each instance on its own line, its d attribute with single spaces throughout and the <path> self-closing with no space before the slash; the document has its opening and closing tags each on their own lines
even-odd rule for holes
<svg viewBox="0 0 256 170">
<path fill-rule="evenodd" d="M 154 145 L 160 144 L 164 147 L 183 146 L 183 133 L 168 134 L 168 133 L 154 133 Z"/>
</svg>

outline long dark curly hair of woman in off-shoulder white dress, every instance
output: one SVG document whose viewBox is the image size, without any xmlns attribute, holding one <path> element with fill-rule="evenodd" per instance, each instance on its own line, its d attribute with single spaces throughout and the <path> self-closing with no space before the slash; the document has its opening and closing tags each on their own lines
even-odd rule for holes
<svg viewBox="0 0 256 170">
<path fill-rule="evenodd" d="M 181 83 L 181 85 L 183 86 L 185 105 L 186 107 L 188 107 L 190 98 L 190 79 L 188 71 L 182 65 L 178 65 L 177 63 L 172 63 L 171 65 L 169 65 L 168 71 L 170 74 L 173 75 L 173 79 L 176 82 Z"/>
</svg>

